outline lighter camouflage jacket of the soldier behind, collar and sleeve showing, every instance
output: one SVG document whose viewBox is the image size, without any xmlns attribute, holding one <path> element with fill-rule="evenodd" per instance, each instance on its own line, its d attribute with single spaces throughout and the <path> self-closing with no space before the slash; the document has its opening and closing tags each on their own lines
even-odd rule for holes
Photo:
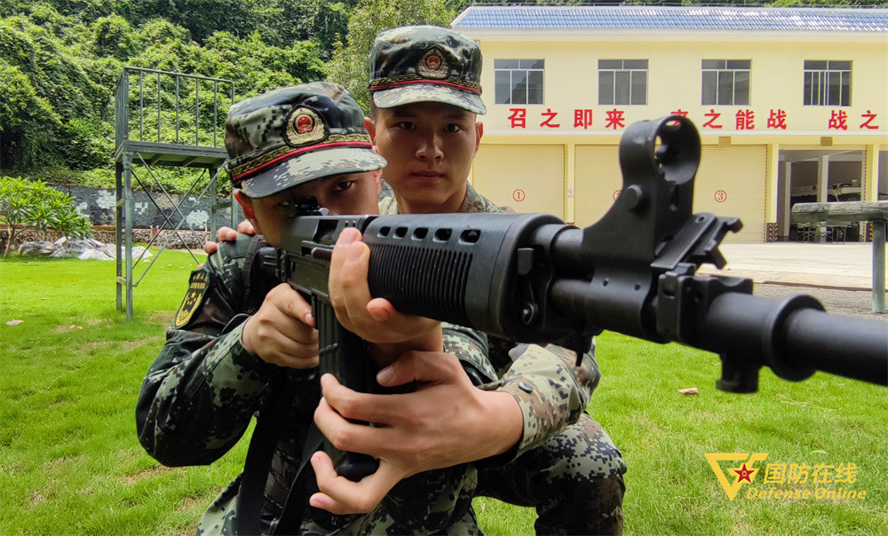
<svg viewBox="0 0 888 536">
<path fill-rule="evenodd" d="M 466 186 L 459 212 L 507 211 L 476 192 L 472 185 Z M 398 202 L 394 197 L 385 197 L 379 202 L 379 213 L 398 214 Z M 518 346 L 509 351 L 511 359 L 502 355 L 505 350 L 491 341 L 489 360 L 496 367 L 498 378 L 488 375 L 489 382 L 481 389 L 507 391 L 519 402 L 524 414 L 524 435 L 516 449 L 503 455 L 514 459 L 576 422 L 589 404 L 601 372 L 595 362 L 594 341 L 591 351 L 583 355 L 582 367 L 575 366 L 573 352 L 553 344 L 544 349 L 535 344 Z"/>
</svg>

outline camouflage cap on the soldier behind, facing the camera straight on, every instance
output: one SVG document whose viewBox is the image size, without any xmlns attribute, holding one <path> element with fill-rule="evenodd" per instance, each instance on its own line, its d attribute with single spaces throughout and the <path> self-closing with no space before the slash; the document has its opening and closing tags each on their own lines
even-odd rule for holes
<svg viewBox="0 0 888 536">
<path fill-rule="evenodd" d="M 435 101 L 487 114 L 480 82 L 478 44 L 447 28 L 394 28 L 370 51 L 370 98 L 380 108 Z"/>
</svg>

